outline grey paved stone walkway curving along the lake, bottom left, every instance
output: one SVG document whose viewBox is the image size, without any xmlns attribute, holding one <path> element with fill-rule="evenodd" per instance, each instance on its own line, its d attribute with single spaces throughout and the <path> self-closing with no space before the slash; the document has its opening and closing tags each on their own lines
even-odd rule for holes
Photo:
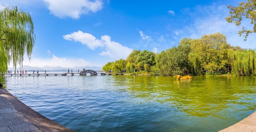
<svg viewBox="0 0 256 132">
<path fill-rule="evenodd" d="M 0 132 L 74 132 L 31 109 L 0 88 Z"/>
</svg>

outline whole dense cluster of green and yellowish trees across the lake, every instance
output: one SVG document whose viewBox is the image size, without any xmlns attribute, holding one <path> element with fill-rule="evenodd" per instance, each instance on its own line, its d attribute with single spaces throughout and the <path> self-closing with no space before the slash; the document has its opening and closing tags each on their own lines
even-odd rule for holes
<svg viewBox="0 0 256 132">
<path fill-rule="evenodd" d="M 134 50 L 124 59 L 107 63 L 104 71 L 153 73 L 162 76 L 214 75 L 231 73 L 248 76 L 256 74 L 256 52 L 233 47 L 220 33 L 204 35 L 200 39 L 183 38 L 177 47 L 161 53 Z"/>
</svg>

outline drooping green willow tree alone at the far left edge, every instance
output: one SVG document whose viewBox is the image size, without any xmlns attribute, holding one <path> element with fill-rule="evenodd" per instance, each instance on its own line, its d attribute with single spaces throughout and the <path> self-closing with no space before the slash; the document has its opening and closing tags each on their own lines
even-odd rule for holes
<svg viewBox="0 0 256 132">
<path fill-rule="evenodd" d="M 22 67 L 24 55 L 31 59 L 35 34 L 32 18 L 17 7 L 0 10 L 0 71 L 6 72 L 11 62 Z"/>
</svg>

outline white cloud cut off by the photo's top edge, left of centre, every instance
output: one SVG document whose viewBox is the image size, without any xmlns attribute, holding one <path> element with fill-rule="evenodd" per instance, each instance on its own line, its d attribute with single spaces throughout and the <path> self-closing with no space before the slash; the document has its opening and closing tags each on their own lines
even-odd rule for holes
<svg viewBox="0 0 256 132">
<path fill-rule="evenodd" d="M 81 14 L 96 12 L 102 9 L 101 0 L 43 0 L 48 9 L 57 17 L 79 18 Z"/>
</svg>

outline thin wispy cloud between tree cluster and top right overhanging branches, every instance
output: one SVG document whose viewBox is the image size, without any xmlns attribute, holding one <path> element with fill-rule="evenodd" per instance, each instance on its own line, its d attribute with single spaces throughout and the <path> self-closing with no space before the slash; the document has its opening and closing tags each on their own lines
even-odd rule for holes
<svg viewBox="0 0 256 132">
<path fill-rule="evenodd" d="M 229 10 L 226 6 L 216 6 L 216 4 L 213 4 L 212 6 L 199 6 L 195 10 L 195 12 L 190 12 L 191 18 L 195 18 L 192 20 L 192 24 L 183 29 L 173 31 L 173 38 L 177 37 L 180 38 L 180 40 L 184 37 L 201 38 L 204 34 L 208 35 L 220 32 L 227 37 L 227 43 L 232 46 L 238 45 L 242 48 L 256 48 L 255 34 L 250 35 L 246 42 L 243 41 L 243 36 L 239 37 L 238 35 L 238 30 L 240 30 L 242 26 L 249 29 L 252 25 L 248 24 L 248 22 L 246 22 L 247 20 L 245 20 L 245 23 L 242 23 L 243 25 L 241 27 L 236 27 L 234 23 L 228 23 L 225 20 L 225 17 L 229 15 Z M 196 14 L 204 15 L 197 15 L 195 17 Z"/>
</svg>

